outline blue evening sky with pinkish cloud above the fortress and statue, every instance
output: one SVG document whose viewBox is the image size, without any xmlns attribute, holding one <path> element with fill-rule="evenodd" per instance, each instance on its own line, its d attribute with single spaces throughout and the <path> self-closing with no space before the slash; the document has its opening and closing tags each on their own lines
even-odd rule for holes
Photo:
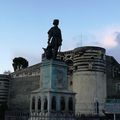
<svg viewBox="0 0 120 120">
<path fill-rule="evenodd" d="M 61 51 L 99 46 L 120 63 L 120 0 L 0 0 L 0 74 L 13 72 L 15 57 L 41 62 L 53 19 Z"/>
</svg>

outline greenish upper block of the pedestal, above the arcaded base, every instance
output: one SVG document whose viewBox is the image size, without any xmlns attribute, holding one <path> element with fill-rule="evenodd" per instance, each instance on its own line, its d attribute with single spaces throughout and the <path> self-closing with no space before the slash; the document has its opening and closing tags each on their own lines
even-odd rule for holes
<svg viewBox="0 0 120 120">
<path fill-rule="evenodd" d="M 41 89 L 67 90 L 67 65 L 61 61 L 46 60 L 41 64 Z"/>
</svg>

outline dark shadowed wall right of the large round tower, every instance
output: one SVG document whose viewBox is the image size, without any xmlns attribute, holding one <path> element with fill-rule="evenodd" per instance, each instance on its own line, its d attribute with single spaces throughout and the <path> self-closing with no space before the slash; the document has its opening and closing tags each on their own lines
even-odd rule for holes
<svg viewBox="0 0 120 120">
<path fill-rule="evenodd" d="M 106 56 L 107 98 L 120 99 L 120 64 L 112 56 Z"/>
</svg>

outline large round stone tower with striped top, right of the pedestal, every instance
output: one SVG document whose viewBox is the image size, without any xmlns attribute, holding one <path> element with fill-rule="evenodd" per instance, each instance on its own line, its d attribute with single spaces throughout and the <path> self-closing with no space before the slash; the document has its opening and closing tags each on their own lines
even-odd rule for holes
<svg viewBox="0 0 120 120">
<path fill-rule="evenodd" d="M 106 98 L 105 49 L 85 46 L 74 49 L 73 91 L 76 112 L 102 114 Z"/>
</svg>

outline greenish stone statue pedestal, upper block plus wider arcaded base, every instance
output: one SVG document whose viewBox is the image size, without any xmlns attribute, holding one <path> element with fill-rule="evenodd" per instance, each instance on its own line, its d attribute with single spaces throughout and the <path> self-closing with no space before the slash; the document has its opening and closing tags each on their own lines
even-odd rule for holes
<svg viewBox="0 0 120 120">
<path fill-rule="evenodd" d="M 31 112 L 75 111 L 75 93 L 68 90 L 67 65 L 58 60 L 41 63 L 40 88 L 31 93 Z"/>
</svg>

